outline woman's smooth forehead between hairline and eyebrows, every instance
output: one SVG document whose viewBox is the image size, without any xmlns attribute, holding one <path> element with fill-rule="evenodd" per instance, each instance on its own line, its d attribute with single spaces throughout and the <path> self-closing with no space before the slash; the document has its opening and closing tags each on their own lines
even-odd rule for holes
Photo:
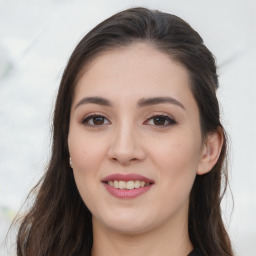
<svg viewBox="0 0 256 256">
<path fill-rule="evenodd" d="M 82 70 L 75 99 L 84 96 L 192 97 L 189 73 L 170 56 L 145 43 L 105 51 Z"/>
</svg>

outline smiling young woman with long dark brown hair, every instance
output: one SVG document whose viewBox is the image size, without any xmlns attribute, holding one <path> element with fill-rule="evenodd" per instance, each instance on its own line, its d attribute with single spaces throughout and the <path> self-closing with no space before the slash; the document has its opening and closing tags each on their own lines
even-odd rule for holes
<svg viewBox="0 0 256 256">
<path fill-rule="evenodd" d="M 18 255 L 233 255 L 217 87 L 211 52 L 174 15 L 128 9 L 91 30 L 61 80 Z"/>
</svg>

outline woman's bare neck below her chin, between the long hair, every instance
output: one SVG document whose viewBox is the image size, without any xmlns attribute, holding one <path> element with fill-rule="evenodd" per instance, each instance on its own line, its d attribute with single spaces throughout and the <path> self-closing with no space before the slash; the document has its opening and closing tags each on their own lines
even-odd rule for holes
<svg viewBox="0 0 256 256">
<path fill-rule="evenodd" d="M 170 227 L 171 225 L 171 227 Z M 124 234 L 93 220 L 92 256 L 186 256 L 193 247 L 188 225 L 170 223 L 139 234 Z"/>
</svg>

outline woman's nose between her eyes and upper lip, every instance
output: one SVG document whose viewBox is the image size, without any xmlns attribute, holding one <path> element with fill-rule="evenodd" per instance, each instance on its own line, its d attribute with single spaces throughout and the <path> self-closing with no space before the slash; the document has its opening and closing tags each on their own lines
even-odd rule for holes
<svg viewBox="0 0 256 256">
<path fill-rule="evenodd" d="M 123 125 L 115 129 L 113 134 L 108 151 L 108 158 L 111 161 L 129 165 L 145 158 L 142 138 L 134 127 Z"/>
</svg>

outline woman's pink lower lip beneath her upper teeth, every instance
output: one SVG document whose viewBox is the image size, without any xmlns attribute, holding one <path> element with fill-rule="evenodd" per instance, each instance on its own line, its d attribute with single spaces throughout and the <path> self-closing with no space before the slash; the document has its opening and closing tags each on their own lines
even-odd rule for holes
<svg viewBox="0 0 256 256">
<path fill-rule="evenodd" d="M 119 189 L 119 188 L 112 187 L 106 183 L 103 183 L 103 184 L 105 185 L 105 188 L 112 196 L 115 196 L 118 198 L 123 198 L 123 199 L 138 197 L 138 196 L 146 193 L 153 186 L 151 184 L 151 185 L 148 185 L 145 187 L 134 188 L 134 189 Z"/>
</svg>

